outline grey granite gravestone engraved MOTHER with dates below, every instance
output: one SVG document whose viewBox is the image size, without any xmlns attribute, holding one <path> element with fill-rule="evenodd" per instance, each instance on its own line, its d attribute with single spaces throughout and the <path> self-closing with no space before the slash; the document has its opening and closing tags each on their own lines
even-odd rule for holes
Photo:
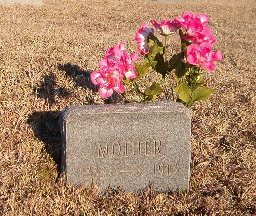
<svg viewBox="0 0 256 216">
<path fill-rule="evenodd" d="M 67 184 L 188 189 L 191 123 L 181 103 L 70 106 L 59 125 Z"/>
</svg>

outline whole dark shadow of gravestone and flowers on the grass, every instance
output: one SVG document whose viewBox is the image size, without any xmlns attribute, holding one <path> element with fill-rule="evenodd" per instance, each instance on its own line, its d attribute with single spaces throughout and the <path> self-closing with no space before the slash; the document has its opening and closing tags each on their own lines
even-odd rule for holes
<svg viewBox="0 0 256 216">
<path fill-rule="evenodd" d="M 58 64 L 61 71 L 65 71 L 67 78 L 72 78 L 75 86 L 87 87 L 96 91 L 90 79 L 90 71 L 83 70 L 78 65 L 70 63 Z M 69 97 L 71 93 L 56 82 L 56 75 L 49 73 L 42 77 L 39 86 L 33 89 L 36 100 L 43 99 L 50 109 L 58 102 L 60 97 Z M 34 136 L 44 142 L 44 148 L 51 155 L 59 172 L 61 165 L 62 143 L 59 129 L 59 114 L 61 111 L 35 111 L 27 116 L 27 122 L 31 125 Z M 59 176 L 58 176 L 59 178 Z M 57 180 L 56 180 L 57 181 Z"/>
</svg>

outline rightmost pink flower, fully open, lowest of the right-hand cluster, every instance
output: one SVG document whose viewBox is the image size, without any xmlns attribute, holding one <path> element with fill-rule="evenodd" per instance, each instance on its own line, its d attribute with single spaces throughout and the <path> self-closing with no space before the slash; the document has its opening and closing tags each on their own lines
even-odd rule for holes
<svg viewBox="0 0 256 216">
<path fill-rule="evenodd" d="M 187 62 L 191 65 L 202 66 L 208 71 L 213 71 L 216 67 L 215 61 L 223 59 L 220 51 L 213 52 L 213 45 L 204 42 L 200 45 L 190 44 L 186 52 Z"/>
</svg>

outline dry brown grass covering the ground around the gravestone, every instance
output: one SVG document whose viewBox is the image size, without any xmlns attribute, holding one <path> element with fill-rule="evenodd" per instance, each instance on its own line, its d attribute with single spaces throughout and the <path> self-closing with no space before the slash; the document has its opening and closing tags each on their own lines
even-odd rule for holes
<svg viewBox="0 0 256 216">
<path fill-rule="evenodd" d="M 210 16 L 215 49 L 225 57 L 206 75 L 216 93 L 191 108 L 189 191 L 101 195 L 96 186 L 66 186 L 58 179 L 59 111 L 123 103 L 118 95 L 102 100 L 90 82 L 105 49 L 124 40 L 135 51 L 133 37 L 142 21 L 184 10 Z M 0 215 L 255 214 L 255 19 L 253 0 L 0 5 Z"/>
</svg>

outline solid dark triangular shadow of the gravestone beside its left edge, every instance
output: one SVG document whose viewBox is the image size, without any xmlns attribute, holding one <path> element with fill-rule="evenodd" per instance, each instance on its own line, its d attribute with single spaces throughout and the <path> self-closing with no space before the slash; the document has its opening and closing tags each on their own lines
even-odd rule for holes
<svg viewBox="0 0 256 216">
<path fill-rule="evenodd" d="M 27 121 L 31 125 L 34 136 L 43 141 L 45 150 L 53 158 L 59 172 L 61 164 L 61 136 L 59 129 L 59 114 L 57 111 L 34 112 L 28 115 Z M 59 176 L 58 176 L 59 177 Z"/>
</svg>

